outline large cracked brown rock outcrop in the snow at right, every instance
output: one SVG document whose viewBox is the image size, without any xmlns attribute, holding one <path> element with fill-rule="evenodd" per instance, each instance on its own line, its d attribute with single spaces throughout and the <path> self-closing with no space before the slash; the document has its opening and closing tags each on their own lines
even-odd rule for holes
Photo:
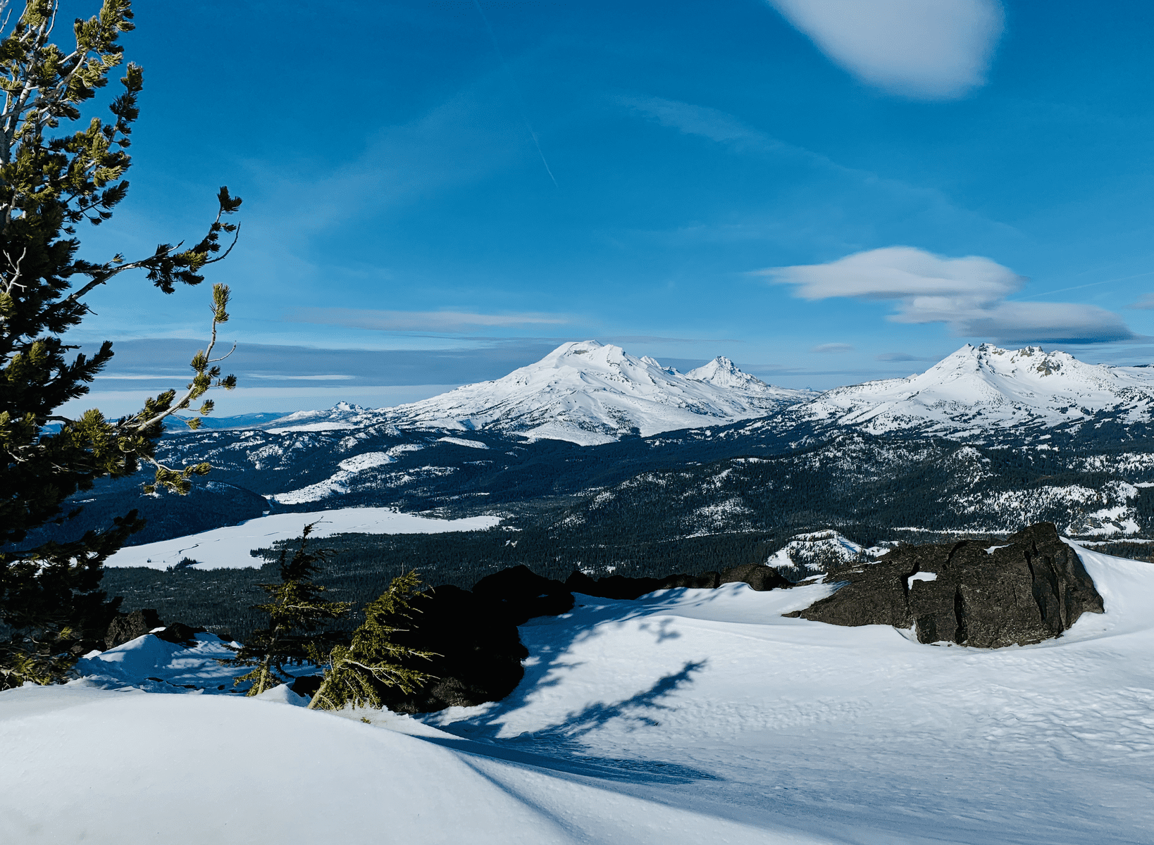
<svg viewBox="0 0 1154 845">
<path fill-rule="evenodd" d="M 915 626 L 920 642 L 999 648 L 1058 636 L 1082 613 L 1102 612 L 1094 581 L 1054 523 L 1040 522 L 1004 542 L 902 546 L 838 573 L 846 586 L 787 616 Z"/>
</svg>

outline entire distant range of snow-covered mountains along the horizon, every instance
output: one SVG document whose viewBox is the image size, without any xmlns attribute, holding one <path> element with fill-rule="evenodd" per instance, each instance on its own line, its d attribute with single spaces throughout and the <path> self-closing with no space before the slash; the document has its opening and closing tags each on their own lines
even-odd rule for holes
<svg viewBox="0 0 1154 845">
<path fill-rule="evenodd" d="M 968 437 L 1103 416 L 1123 424 L 1154 422 L 1154 368 L 1088 364 L 1041 347 L 966 344 L 924 372 L 817 393 L 767 385 L 721 356 L 683 374 L 594 340 L 563 344 L 508 376 L 419 402 L 380 409 L 340 402 L 260 428 L 325 431 L 385 423 L 593 446 L 741 421 L 749 421 L 750 430 L 805 425 Z"/>
</svg>

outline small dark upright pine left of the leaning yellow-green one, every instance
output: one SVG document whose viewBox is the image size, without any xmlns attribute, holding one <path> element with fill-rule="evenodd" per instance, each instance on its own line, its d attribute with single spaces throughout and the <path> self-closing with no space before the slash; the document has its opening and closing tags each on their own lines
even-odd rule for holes
<svg viewBox="0 0 1154 845">
<path fill-rule="evenodd" d="M 315 525 L 305 526 L 291 559 L 287 548 L 280 551 L 280 583 L 260 584 L 270 601 L 256 605 L 254 610 L 269 614 L 269 626 L 254 631 L 237 656 L 224 661 L 233 666 L 255 666 L 233 681 L 234 685 L 252 682 L 248 695 L 260 695 L 291 681 L 286 665 L 302 665 L 315 654 L 330 651 L 338 644 L 322 626 L 325 621 L 347 616 L 352 605 L 322 598 L 324 587 L 313 583 L 313 578 L 321 571 L 320 565 L 327 563 L 330 554 L 323 549 L 308 551 L 308 535 Z"/>
</svg>

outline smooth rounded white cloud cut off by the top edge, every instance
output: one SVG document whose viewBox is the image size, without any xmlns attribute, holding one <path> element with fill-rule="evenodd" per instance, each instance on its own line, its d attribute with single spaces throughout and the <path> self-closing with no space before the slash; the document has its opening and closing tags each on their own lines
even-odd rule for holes
<svg viewBox="0 0 1154 845">
<path fill-rule="evenodd" d="M 986 83 L 1002 35 L 997 0 L 769 0 L 862 81 L 916 99 L 951 99 Z"/>
</svg>

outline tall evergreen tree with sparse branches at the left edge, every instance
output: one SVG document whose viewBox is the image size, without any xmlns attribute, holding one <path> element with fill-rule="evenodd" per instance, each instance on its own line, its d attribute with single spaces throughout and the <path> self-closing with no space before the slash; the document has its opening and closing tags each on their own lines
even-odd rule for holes
<svg viewBox="0 0 1154 845">
<path fill-rule="evenodd" d="M 193 379 L 179 395 L 166 391 L 115 421 L 96 409 L 77 418 L 57 413 L 84 395 L 112 359 L 111 342 L 73 357 L 77 347 L 61 338 L 88 312 L 84 297 L 128 270 L 143 270 L 165 293 L 200 284 L 200 271 L 227 255 L 218 255 L 219 237 L 237 227 L 223 218 L 240 205 L 222 188 L 216 218 L 192 248 L 160 244 L 136 261 L 76 257 L 76 227 L 107 220 L 128 190 L 123 175 L 143 71 L 125 67 L 111 121 L 91 118 L 74 131 L 61 129 L 81 120 L 81 105 L 122 62 L 118 39 L 133 29 L 133 13 L 129 0 L 104 0 L 95 17 L 73 25 L 75 46 L 62 48 L 50 40 L 58 12 L 59 0 L 25 0 L 18 18 L 0 20 L 0 623 L 8 629 L 0 642 L 0 688 L 58 680 L 99 640 L 117 609 L 99 590 L 103 563 L 143 523 L 132 512 L 80 541 L 21 549 L 28 531 L 62 521 L 62 503 L 77 490 L 130 475 L 142 462 L 156 469 L 150 489 L 186 492 L 190 477 L 209 467 L 157 462 L 164 420 L 212 386 L 235 385 L 234 377 L 222 378 L 220 359 L 212 357 L 217 326 L 228 318 L 228 288 L 217 285 L 211 342 L 194 356 Z M 211 409 L 211 401 L 198 408 Z"/>
</svg>

